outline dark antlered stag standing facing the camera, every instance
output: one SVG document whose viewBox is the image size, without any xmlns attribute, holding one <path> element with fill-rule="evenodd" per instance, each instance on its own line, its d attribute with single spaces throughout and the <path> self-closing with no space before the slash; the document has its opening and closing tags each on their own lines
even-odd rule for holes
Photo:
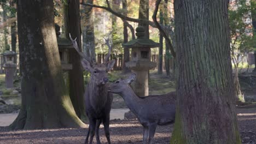
<svg viewBox="0 0 256 144">
<path fill-rule="evenodd" d="M 90 135 L 90 144 L 92 143 L 96 131 L 96 141 L 100 144 L 100 136 L 98 130 L 100 128 L 101 122 L 104 125 L 105 135 L 107 137 L 108 143 L 110 143 L 109 136 L 109 113 L 111 109 L 111 104 L 113 101 L 112 93 L 107 91 L 106 83 L 108 82 L 107 73 L 113 68 L 115 60 L 108 61 L 112 46 L 109 45 L 108 40 L 106 43 L 108 45 L 109 51 L 107 56 L 104 58 L 103 64 L 92 62 L 91 59 L 86 57 L 82 51 L 79 50 L 77 41 L 72 39 L 71 35 L 69 37 L 73 43 L 75 50 L 81 56 L 81 63 L 83 68 L 91 73 L 90 82 L 86 88 L 84 99 L 85 99 L 85 111 L 89 118 L 89 130 L 86 135 L 85 143 L 88 143 Z"/>
</svg>

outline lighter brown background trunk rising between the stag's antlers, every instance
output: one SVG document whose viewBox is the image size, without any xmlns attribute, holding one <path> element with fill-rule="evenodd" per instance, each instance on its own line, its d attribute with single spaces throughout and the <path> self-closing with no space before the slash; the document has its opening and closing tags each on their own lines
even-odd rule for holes
<svg viewBox="0 0 256 144">
<path fill-rule="evenodd" d="M 94 4 L 93 0 L 83 0 L 84 3 Z M 92 7 L 82 5 L 82 25 L 83 25 L 83 52 L 96 62 L 95 38 L 94 38 L 94 21 L 92 19 Z"/>
</svg>

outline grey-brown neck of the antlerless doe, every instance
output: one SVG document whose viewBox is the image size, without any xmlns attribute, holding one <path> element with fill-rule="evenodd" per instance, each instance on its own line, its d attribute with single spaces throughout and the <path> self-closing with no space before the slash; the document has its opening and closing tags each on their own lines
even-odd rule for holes
<svg viewBox="0 0 256 144">
<path fill-rule="evenodd" d="M 140 102 L 142 98 L 139 98 L 131 87 L 127 87 L 125 91 L 121 93 L 121 96 L 129 109 L 137 116 L 141 107 Z"/>
</svg>

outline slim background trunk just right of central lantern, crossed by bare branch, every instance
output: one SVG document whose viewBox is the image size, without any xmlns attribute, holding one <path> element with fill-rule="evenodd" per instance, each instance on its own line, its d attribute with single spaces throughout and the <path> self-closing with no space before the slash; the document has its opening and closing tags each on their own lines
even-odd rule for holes
<svg viewBox="0 0 256 144">
<path fill-rule="evenodd" d="M 159 11 L 159 14 L 160 14 L 160 24 L 164 24 L 164 17 L 163 17 L 163 5 L 160 4 L 160 11 Z M 160 33 L 159 34 L 159 54 L 158 54 L 158 74 L 161 75 L 162 74 L 162 41 L 163 40 L 163 37 L 162 37 L 162 34 Z"/>
</svg>

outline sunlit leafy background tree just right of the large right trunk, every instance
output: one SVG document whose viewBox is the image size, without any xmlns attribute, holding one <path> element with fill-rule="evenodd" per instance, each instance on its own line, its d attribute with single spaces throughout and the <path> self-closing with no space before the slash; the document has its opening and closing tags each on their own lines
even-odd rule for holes
<svg viewBox="0 0 256 144">
<path fill-rule="evenodd" d="M 230 37 L 231 37 L 231 60 L 234 64 L 234 86 L 236 100 L 245 101 L 243 94 L 241 93 L 240 83 L 238 79 L 238 67 L 243 61 L 243 58 L 247 54 L 253 51 L 253 45 L 251 45 L 252 28 L 251 22 L 247 20 L 251 19 L 251 13 L 253 9 L 246 0 L 236 1 L 232 3 L 229 8 L 229 26 L 230 26 Z"/>
</svg>

